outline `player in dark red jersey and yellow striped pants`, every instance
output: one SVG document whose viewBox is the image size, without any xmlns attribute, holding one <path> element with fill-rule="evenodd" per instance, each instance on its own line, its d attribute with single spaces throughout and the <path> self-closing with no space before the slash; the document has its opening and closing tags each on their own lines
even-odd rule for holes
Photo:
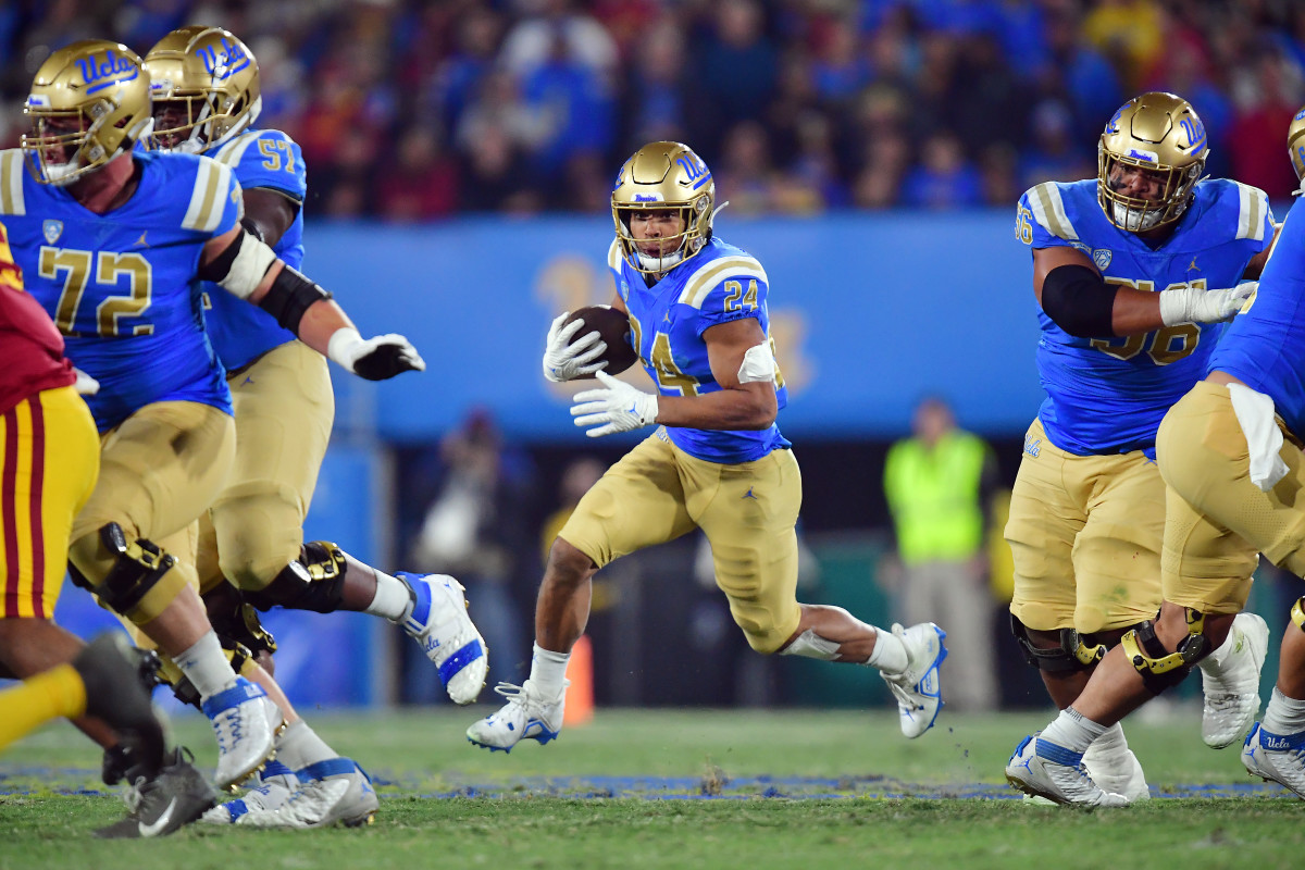
<svg viewBox="0 0 1305 870">
<path fill-rule="evenodd" d="M 130 754 L 140 797 L 123 831 L 159 836 L 213 803 L 184 757 L 163 754 L 163 730 L 138 669 L 124 661 L 121 634 L 89 647 L 54 621 L 73 517 L 99 472 L 95 423 L 64 357 L 64 339 L 22 287 L 0 224 L 0 672 L 25 682 L 0 699 L 0 746 L 67 716 L 106 751 Z M 166 819 L 161 814 L 176 798 Z M 144 823 L 144 824 L 141 824 Z"/>
</svg>

